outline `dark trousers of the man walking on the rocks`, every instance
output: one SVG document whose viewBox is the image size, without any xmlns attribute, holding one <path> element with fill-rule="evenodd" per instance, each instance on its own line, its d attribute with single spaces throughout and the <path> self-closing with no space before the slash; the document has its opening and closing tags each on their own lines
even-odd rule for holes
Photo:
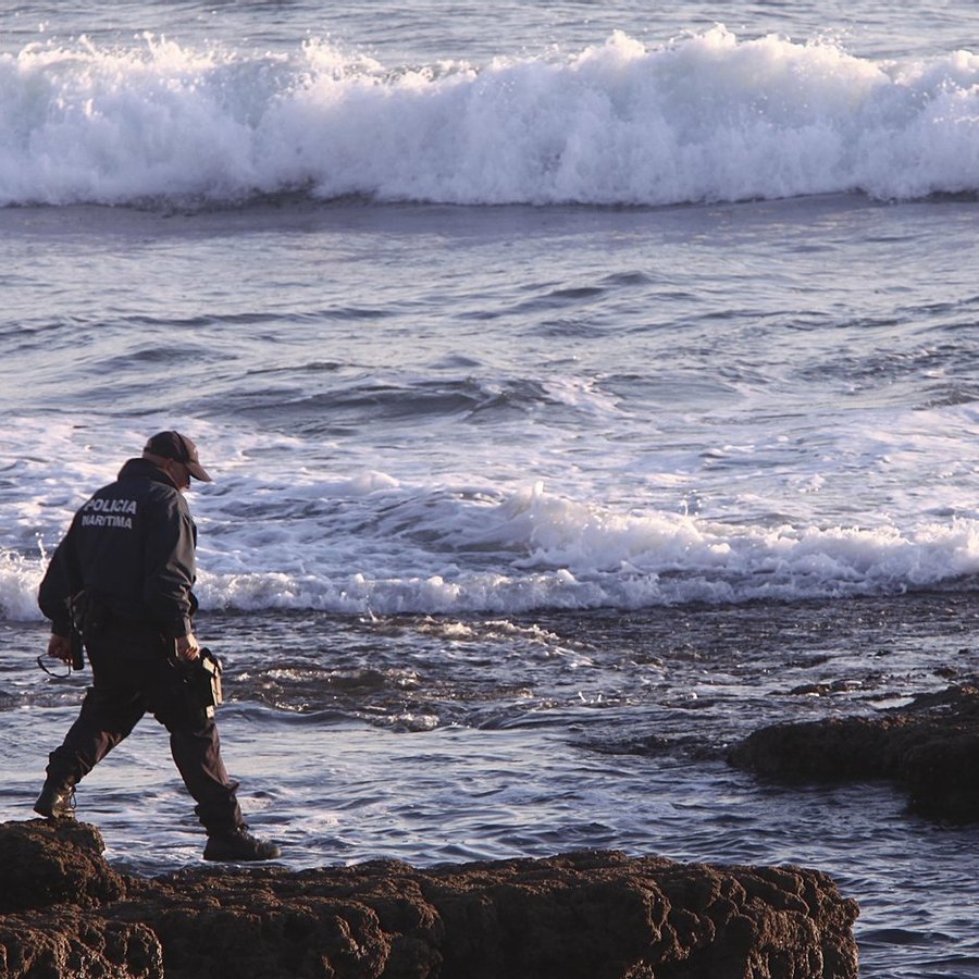
<svg viewBox="0 0 979 979">
<path fill-rule="evenodd" d="M 186 667 L 173 662 L 173 640 L 151 627 L 112 619 L 87 633 L 85 643 L 92 684 L 64 743 L 50 755 L 48 779 L 75 784 L 150 712 L 170 732 L 173 760 L 208 832 L 244 826 L 238 784 L 221 760 L 218 727 L 188 696 Z"/>
</svg>

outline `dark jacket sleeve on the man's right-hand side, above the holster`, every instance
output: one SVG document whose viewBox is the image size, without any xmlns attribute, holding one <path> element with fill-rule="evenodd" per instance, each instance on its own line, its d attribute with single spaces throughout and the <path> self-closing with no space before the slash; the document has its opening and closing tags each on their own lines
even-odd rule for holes
<svg viewBox="0 0 979 979">
<path fill-rule="evenodd" d="M 177 494 L 161 501 L 147 526 L 142 599 L 171 639 L 193 631 L 197 530 Z"/>
</svg>

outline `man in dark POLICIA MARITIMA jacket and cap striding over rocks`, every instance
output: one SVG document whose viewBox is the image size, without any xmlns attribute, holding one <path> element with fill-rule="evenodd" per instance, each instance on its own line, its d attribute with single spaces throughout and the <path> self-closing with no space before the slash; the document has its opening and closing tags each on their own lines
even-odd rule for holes
<svg viewBox="0 0 979 979">
<path fill-rule="evenodd" d="M 74 629 L 92 683 L 64 743 L 49 756 L 34 809 L 72 818 L 75 784 L 150 711 L 170 732 L 173 760 L 197 802 L 208 832 L 205 859 L 274 859 L 280 848 L 247 831 L 213 710 L 188 682 L 202 669 L 191 622 L 197 528 L 183 496 L 191 478 L 211 482 L 194 443 L 178 432 L 153 435 L 142 458 L 129 459 L 78 510 L 51 558 L 38 592 L 51 619 L 48 654 L 71 662 Z"/>
</svg>

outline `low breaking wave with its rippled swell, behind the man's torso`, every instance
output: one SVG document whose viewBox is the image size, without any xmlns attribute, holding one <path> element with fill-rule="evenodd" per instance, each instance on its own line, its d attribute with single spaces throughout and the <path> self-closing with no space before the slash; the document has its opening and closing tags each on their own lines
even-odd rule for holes
<svg viewBox="0 0 979 979">
<path fill-rule="evenodd" d="M 889 594 L 979 572 L 979 520 L 797 526 L 619 512 L 541 484 L 479 501 L 462 494 L 357 478 L 326 490 L 305 516 L 244 519 L 233 499 L 199 506 L 198 592 L 205 607 L 342 614 L 642 608 Z M 395 487 L 396 488 L 392 488 Z M 295 499 L 294 497 L 293 499 Z M 310 500 L 308 495 L 298 498 Z M 397 516 L 392 516 L 393 511 Z M 61 515 L 66 519 L 67 511 Z M 50 518 L 49 518 L 50 520 Z M 37 619 L 34 595 L 50 547 L 0 553 L 3 617 Z"/>
</svg>

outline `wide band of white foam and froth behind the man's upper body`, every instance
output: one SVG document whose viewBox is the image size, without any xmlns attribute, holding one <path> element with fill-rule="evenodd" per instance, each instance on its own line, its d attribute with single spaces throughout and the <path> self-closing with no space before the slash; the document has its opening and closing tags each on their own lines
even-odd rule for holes
<svg viewBox="0 0 979 979">
<path fill-rule="evenodd" d="M 559 456 L 567 469 L 559 475 L 550 462 L 549 485 L 519 467 L 507 474 L 515 446 L 485 463 L 491 480 L 478 459 L 466 470 L 453 457 L 457 471 L 433 472 L 423 451 L 401 453 L 391 471 L 371 469 L 361 464 L 370 444 L 356 441 L 324 463 L 315 441 L 200 419 L 142 419 L 138 430 L 106 420 L 90 430 L 23 416 L 0 443 L 0 615 L 39 619 L 37 585 L 73 512 L 114 476 L 126 446 L 135 454 L 147 431 L 169 424 L 207 446 L 220 476 L 191 494 L 206 608 L 507 615 L 893 594 L 972 580 L 979 513 L 962 506 L 972 468 L 947 461 L 967 444 L 972 412 L 889 418 L 884 433 L 873 413 L 852 416 L 840 449 L 823 442 L 828 451 L 814 456 L 803 445 L 777 464 L 770 445 L 743 433 L 739 490 L 745 475 L 723 464 L 733 444 L 706 463 L 667 445 L 647 471 L 611 446 L 585 469 L 573 454 Z M 736 441 L 733 420 L 727 434 Z"/>
</svg>

